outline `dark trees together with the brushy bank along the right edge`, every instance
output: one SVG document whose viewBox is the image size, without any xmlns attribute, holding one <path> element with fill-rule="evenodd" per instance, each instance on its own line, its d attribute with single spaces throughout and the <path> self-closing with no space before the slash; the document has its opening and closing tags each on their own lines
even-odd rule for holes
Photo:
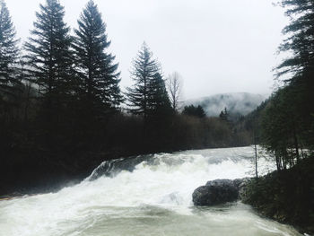
<svg viewBox="0 0 314 236">
<path fill-rule="evenodd" d="M 267 217 L 313 234 L 314 2 L 283 0 L 281 4 L 291 19 L 279 48 L 290 57 L 275 68 L 283 86 L 239 124 L 253 129 L 277 170 L 251 180 L 244 202 Z"/>
</svg>

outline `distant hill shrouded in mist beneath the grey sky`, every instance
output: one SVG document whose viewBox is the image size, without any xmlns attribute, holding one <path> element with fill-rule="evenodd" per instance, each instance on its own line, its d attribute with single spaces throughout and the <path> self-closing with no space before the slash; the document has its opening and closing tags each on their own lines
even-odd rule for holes
<svg viewBox="0 0 314 236">
<path fill-rule="evenodd" d="M 266 98 L 266 95 L 255 93 L 230 92 L 188 100 L 184 102 L 184 105 L 201 105 L 208 117 L 218 117 L 222 109 L 227 108 L 231 117 L 235 118 L 249 114 Z"/>
</svg>

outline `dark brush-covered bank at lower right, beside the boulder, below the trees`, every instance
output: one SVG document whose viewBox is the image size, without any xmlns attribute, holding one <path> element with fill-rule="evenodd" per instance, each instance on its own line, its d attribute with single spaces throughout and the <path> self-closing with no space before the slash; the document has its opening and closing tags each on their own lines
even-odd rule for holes
<svg viewBox="0 0 314 236">
<path fill-rule="evenodd" d="M 313 235 L 314 156 L 289 170 L 252 179 L 242 202 L 252 205 L 259 214 Z"/>
</svg>

